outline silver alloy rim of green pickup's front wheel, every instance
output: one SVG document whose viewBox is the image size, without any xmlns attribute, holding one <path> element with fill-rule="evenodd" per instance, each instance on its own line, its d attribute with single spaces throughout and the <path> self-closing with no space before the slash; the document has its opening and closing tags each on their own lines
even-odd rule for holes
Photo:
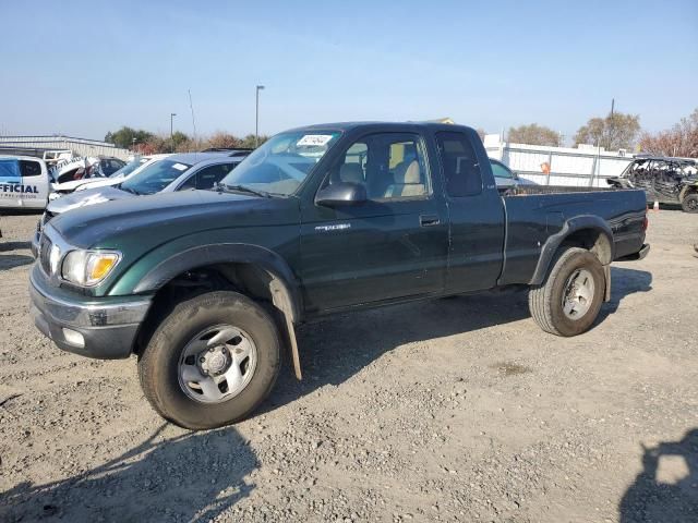
<svg viewBox="0 0 698 523">
<path fill-rule="evenodd" d="M 177 374 L 191 399 L 221 403 L 244 390 L 256 364 L 257 349 L 250 335 L 231 325 L 218 325 L 186 343 Z"/>
</svg>

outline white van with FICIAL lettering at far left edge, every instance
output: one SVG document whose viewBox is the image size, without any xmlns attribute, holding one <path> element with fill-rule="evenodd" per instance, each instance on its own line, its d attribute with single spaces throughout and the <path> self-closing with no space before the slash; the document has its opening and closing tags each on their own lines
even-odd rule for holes
<svg viewBox="0 0 698 523">
<path fill-rule="evenodd" d="M 46 162 L 33 156 L 0 156 L 0 208 L 43 209 L 48 202 Z"/>
</svg>

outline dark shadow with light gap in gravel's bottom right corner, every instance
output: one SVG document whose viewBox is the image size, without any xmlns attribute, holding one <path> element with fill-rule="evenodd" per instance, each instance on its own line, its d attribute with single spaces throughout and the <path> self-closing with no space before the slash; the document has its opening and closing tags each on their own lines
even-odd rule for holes
<svg viewBox="0 0 698 523">
<path fill-rule="evenodd" d="M 618 504 L 621 523 L 698 521 L 698 429 L 642 450 L 642 472 Z"/>
</svg>

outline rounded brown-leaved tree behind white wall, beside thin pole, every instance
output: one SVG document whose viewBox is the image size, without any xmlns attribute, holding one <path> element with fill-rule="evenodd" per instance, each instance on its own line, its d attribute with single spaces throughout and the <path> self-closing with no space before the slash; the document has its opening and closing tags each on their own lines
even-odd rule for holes
<svg viewBox="0 0 698 523">
<path fill-rule="evenodd" d="M 575 145 L 591 144 L 606 150 L 631 149 L 640 133 L 637 114 L 609 113 L 605 118 L 592 118 L 575 135 Z"/>
</svg>

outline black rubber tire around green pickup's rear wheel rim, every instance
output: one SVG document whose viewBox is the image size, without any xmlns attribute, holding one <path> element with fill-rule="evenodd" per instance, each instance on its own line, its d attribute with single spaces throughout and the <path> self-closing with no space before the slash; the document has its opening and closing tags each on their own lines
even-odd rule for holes
<svg viewBox="0 0 698 523">
<path fill-rule="evenodd" d="M 563 311 L 563 296 L 567 280 L 579 269 L 586 269 L 593 278 L 593 299 L 583 316 L 570 318 Z M 569 247 L 553 260 L 543 284 L 531 287 L 528 306 L 531 316 L 545 332 L 577 336 L 589 330 L 597 319 L 603 305 L 604 292 L 605 275 L 599 258 L 587 250 Z"/>
</svg>

